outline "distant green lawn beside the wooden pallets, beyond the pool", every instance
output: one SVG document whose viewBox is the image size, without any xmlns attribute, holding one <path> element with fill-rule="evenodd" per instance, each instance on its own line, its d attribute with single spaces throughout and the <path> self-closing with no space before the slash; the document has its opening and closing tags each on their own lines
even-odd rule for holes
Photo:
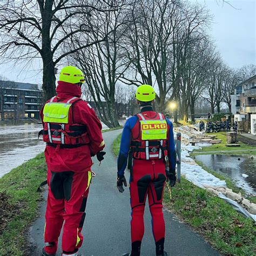
<svg viewBox="0 0 256 256">
<path fill-rule="evenodd" d="M 240 144 L 240 147 L 227 147 L 226 146 L 226 143 L 227 143 L 226 132 L 215 132 L 212 134 L 216 135 L 217 139 L 221 139 L 221 143 L 213 144 L 212 146 L 203 147 L 201 150 L 197 150 L 197 152 L 201 153 L 201 152 L 207 152 L 207 151 L 216 151 L 216 152 L 218 152 L 218 151 L 238 151 L 239 154 L 246 154 L 246 153 L 256 154 L 255 151 L 250 151 L 250 150 L 256 150 L 256 147 L 248 146 L 242 142 L 238 142 L 238 144 Z M 248 152 L 239 152 L 241 150 L 248 150 Z M 221 152 L 220 152 L 220 154 L 221 154 Z"/>
</svg>

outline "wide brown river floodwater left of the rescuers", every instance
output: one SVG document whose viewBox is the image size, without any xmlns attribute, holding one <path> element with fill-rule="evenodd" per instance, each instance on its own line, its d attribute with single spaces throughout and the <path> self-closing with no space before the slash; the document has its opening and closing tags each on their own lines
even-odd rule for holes
<svg viewBox="0 0 256 256">
<path fill-rule="evenodd" d="M 108 127 L 102 124 L 103 129 Z M 0 177 L 45 149 L 42 124 L 0 125 Z"/>
</svg>

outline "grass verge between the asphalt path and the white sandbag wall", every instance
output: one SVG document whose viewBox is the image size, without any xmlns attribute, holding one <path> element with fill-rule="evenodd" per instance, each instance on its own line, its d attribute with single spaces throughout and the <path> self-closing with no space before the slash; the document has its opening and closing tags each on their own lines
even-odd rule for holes
<svg viewBox="0 0 256 256">
<path fill-rule="evenodd" d="M 116 156 L 119 147 L 120 135 L 112 145 Z M 237 191 L 233 184 L 227 183 Z M 256 228 L 253 221 L 244 218 L 223 199 L 193 185 L 184 177 L 181 177 L 180 184 L 172 188 L 172 198 L 165 190 L 164 205 L 203 235 L 220 253 L 255 255 Z"/>
</svg>

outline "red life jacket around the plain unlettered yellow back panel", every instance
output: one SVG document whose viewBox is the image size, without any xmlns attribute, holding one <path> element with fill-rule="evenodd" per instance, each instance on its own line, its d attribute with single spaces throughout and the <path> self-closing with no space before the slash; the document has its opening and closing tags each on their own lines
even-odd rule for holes
<svg viewBox="0 0 256 256">
<path fill-rule="evenodd" d="M 41 132 L 39 132 L 39 135 L 43 134 L 43 140 L 49 146 L 56 147 L 58 144 L 60 144 L 61 147 L 72 148 L 89 144 L 90 140 L 87 135 L 86 125 L 73 123 L 73 105 L 79 100 L 82 99 L 72 97 L 70 99 L 65 99 L 63 101 L 58 102 L 71 104 L 71 107 L 69 109 L 68 124 L 44 122 L 44 129 Z M 57 102 L 56 96 L 51 98 L 49 102 Z"/>
</svg>

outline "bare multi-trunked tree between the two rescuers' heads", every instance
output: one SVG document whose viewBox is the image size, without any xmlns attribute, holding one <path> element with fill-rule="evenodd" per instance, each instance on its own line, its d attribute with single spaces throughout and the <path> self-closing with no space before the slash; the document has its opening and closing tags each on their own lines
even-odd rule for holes
<svg viewBox="0 0 256 256">
<path fill-rule="evenodd" d="M 109 127 L 119 126 L 114 97 L 115 87 L 128 67 L 119 55 L 122 50 L 120 44 L 129 25 L 126 18 L 127 4 L 126 0 L 115 0 L 113 3 L 119 6 L 118 10 L 104 12 L 91 21 L 92 26 L 99 28 L 91 34 L 91 40 L 97 43 L 72 55 L 84 70 L 86 84 L 89 86 L 98 111 L 102 114 L 101 119 Z M 99 38 L 103 35 L 107 35 L 105 41 L 100 42 Z M 79 48 L 83 41 L 80 39 L 73 43 L 76 43 Z"/>
</svg>

